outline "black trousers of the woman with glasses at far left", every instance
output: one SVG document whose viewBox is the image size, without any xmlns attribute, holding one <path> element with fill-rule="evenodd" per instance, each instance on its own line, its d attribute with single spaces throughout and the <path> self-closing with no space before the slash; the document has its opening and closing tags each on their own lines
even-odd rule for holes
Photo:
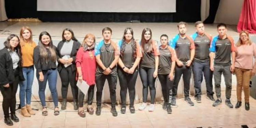
<svg viewBox="0 0 256 128">
<path fill-rule="evenodd" d="M 15 79 L 13 83 L 10 83 L 9 87 L 3 87 L 3 85 L 0 85 L 0 90 L 3 95 L 3 113 L 4 118 L 9 118 L 9 108 L 11 111 L 11 114 L 15 114 L 16 109 L 16 92 L 18 89 L 18 75 L 15 75 Z"/>
</svg>

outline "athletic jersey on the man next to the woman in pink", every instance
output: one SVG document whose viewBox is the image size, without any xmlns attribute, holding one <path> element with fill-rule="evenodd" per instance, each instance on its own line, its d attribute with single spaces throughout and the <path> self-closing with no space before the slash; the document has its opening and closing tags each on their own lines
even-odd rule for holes
<svg viewBox="0 0 256 128">
<path fill-rule="evenodd" d="M 210 52 L 215 52 L 214 65 L 231 65 L 232 51 L 236 51 L 236 47 L 231 36 L 226 39 L 220 39 L 219 36 L 213 38 Z"/>
</svg>

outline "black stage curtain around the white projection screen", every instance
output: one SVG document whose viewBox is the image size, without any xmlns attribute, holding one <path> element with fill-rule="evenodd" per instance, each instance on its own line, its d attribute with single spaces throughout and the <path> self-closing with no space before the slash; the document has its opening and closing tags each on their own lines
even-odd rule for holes
<svg viewBox="0 0 256 128">
<path fill-rule="evenodd" d="M 176 13 L 98 13 L 37 11 L 37 0 L 5 0 L 8 18 L 39 18 L 44 22 L 196 22 L 201 0 L 176 0 Z"/>
</svg>

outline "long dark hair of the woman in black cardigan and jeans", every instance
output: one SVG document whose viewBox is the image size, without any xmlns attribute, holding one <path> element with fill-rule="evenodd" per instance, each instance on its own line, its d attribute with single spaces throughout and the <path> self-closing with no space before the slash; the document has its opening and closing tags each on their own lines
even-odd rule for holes
<svg viewBox="0 0 256 128">
<path fill-rule="evenodd" d="M 43 35 L 47 35 L 50 38 L 50 42 L 49 42 L 48 46 L 49 46 L 49 51 L 51 52 L 51 58 L 47 57 L 46 48 L 45 48 L 44 44 L 41 42 Z M 56 61 L 56 51 L 53 46 L 52 37 L 48 32 L 44 31 L 44 32 L 40 33 L 38 46 L 39 46 L 39 50 L 40 50 L 40 57 L 43 59 L 43 61 L 45 61 L 46 63 L 47 63 L 48 59 L 51 59 L 54 62 Z"/>
</svg>

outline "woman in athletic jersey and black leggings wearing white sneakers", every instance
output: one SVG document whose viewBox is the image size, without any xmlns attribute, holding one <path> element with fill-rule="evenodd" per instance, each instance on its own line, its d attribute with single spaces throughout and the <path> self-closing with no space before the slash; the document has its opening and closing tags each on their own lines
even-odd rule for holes
<svg viewBox="0 0 256 128">
<path fill-rule="evenodd" d="M 159 49 L 157 42 L 152 39 L 152 31 L 150 28 L 145 28 L 141 34 L 141 48 L 143 57 L 140 62 L 140 78 L 143 84 L 143 102 L 139 110 L 144 110 L 147 106 L 147 94 L 148 86 L 150 88 L 150 108 L 148 111 L 153 112 L 155 110 L 155 97 L 156 87 L 155 80 L 158 74 L 158 61 L 159 61 Z"/>
</svg>

